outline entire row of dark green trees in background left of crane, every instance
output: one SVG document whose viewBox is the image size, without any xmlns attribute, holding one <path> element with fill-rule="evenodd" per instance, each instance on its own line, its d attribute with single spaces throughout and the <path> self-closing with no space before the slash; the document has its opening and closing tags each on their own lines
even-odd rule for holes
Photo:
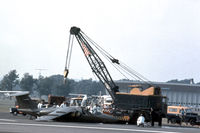
<svg viewBox="0 0 200 133">
<path fill-rule="evenodd" d="M 41 97 L 42 95 L 68 96 L 69 93 L 98 95 L 105 94 L 104 86 L 92 79 L 76 81 L 67 79 L 64 84 L 62 75 L 52 75 L 49 77 L 39 76 L 33 78 L 33 75 L 25 73 L 21 79 L 16 70 L 11 70 L 3 76 L 0 81 L 0 90 L 13 91 L 16 89 L 29 91 L 31 95 Z"/>
</svg>

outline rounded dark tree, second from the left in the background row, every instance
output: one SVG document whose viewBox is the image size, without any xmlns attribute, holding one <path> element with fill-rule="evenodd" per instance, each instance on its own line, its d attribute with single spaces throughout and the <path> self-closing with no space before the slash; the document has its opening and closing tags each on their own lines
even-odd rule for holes
<svg viewBox="0 0 200 133">
<path fill-rule="evenodd" d="M 24 91 L 33 92 L 33 85 L 36 83 L 36 79 L 33 78 L 29 73 L 25 73 L 24 77 L 20 81 L 20 87 Z"/>
</svg>

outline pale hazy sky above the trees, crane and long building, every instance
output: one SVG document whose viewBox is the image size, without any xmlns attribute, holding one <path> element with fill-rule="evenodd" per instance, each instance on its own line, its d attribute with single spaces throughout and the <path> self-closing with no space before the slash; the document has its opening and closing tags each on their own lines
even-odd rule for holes
<svg viewBox="0 0 200 133">
<path fill-rule="evenodd" d="M 63 74 L 77 26 L 151 81 L 200 82 L 199 7 L 199 0 L 0 0 L 0 79 L 13 69 L 20 77 Z M 94 79 L 77 43 L 69 78 Z"/>
</svg>

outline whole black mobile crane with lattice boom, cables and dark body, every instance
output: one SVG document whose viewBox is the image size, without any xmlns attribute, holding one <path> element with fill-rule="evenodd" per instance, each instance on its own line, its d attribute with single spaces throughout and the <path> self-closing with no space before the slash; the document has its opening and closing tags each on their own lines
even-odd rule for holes
<svg viewBox="0 0 200 133">
<path fill-rule="evenodd" d="M 154 126 L 154 122 L 158 122 L 158 125 L 161 126 L 162 118 L 166 117 L 167 112 L 166 97 L 162 96 L 161 88 L 148 83 L 150 87 L 143 90 L 144 92 L 140 90 L 140 94 L 120 92 L 119 86 L 116 85 L 105 63 L 93 47 L 98 49 L 100 53 L 102 53 L 112 64 L 121 67 L 129 74 L 135 75 L 135 73 L 132 73 L 126 65 L 103 50 L 78 27 L 71 27 L 70 29 L 69 45 L 64 70 L 65 81 L 69 73 L 69 64 L 74 37 L 78 41 L 78 44 L 80 45 L 92 72 L 96 75 L 100 82 L 103 83 L 113 100 L 113 111 L 111 115 L 116 117 L 129 117 L 128 122 L 135 124 L 139 115 L 142 114 L 147 122 L 151 122 L 152 126 Z M 93 47 L 91 45 L 93 45 Z M 138 75 L 137 77 L 141 79 Z M 132 92 L 136 92 L 135 88 L 132 90 Z M 151 94 L 149 92 L 151 92 Z"/>
</svg>

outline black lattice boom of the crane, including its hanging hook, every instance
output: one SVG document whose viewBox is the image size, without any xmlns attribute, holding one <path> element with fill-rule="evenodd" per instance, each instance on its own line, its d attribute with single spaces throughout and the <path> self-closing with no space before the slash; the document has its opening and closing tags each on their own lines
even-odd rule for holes
<svg viewBox="0 0 200 133">
<path fill-rule="evenodd" d="M 92 69 L 92 72 L 98 77 L 98 79 L 105 85 L 108 93 L 115 100 L 115 93 L 119 92 L 119 87 L 113 82 L 110 73 L 108 72 L 104 62 L 98 56 L 98 54 L 94 51 L 94 49 L 90 46 L 86 38 L 84 37 L 84 33 L 80 28 L 72 27 L 70 29 L 70 34 L 74 35 L 84 52 L 84 55 Z M 69 50 L 68 50 L 69 51 Z M 70 58 L 70 56 L 68 56 Z M 69 59 L 67 59 L 69 60 Z M 112 59 L 112 62 L 119 63 L 117 59 Z M 65 66 L 65 78 L 67 77 L 69 70 L 67 68 L 67 63 Z"/>
</svg>

